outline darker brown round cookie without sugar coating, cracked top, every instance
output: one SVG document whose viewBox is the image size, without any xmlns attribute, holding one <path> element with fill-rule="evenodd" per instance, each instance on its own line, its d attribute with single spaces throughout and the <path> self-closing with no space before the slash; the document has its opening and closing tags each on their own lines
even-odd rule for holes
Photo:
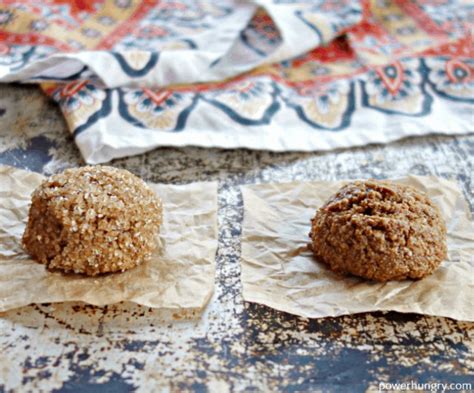
<svg viewBox="0 0 474 393">
<path fill-rule="evenodd" d="M 413 187 L 356 181 L 342 187 L 311 221 L 315 257 L 338 273 L 376 281 L 420 279 L 447 256 L 441 214 Z"/>
</svg>

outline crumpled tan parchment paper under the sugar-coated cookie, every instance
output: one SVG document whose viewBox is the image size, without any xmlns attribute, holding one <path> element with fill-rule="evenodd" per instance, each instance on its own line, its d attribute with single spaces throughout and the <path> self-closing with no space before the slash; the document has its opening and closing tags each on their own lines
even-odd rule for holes
<svg viewBox="0 0 474 393">
<path fill-rule="evenodd" d="M 149 262 L 99 277 L 49 272 L 22 249 L 30 195 L 43 176 L 0 167 L 0 311 L 31 303 L 131 301 L 199 311 L 214 288 L 217 183 L 150 184 L 163 201 L 164 222 Z"/>
</svg>

